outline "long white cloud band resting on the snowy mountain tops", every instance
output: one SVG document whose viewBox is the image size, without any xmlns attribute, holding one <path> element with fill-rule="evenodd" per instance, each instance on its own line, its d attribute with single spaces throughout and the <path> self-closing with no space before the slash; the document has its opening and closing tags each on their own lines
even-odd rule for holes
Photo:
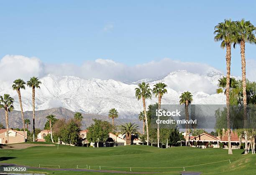
<svg viewBox="0 0 256 175">
<path fill-rule="evenodd" d="M 247 65 L 248 69 L 251 66 L 251 71 L 248 71 L 248 78 L 255 80 L 255 67 L 253 67 L 252 63 Z M 99 78 L 136 81 L 165 76 L 177 70 L 187 70 L 199 75 L 205 75 L 212 71 L 219 72 L 217 69 L 204 63 L 182 62 L 170 58 L 136 66 L 127 66 L 111 59 L 97 59 L 95 61 L 85 61 L 82 65 L 77 66 L 67 63 L 46 64 L 34 57 L 7 55 L 0 60 L 0 81 L 13 81 L 17 78 L 27 81 L 31 76 L 43 77 L 47 74 L 78 76 L 84 79 Z"/>
</svg>

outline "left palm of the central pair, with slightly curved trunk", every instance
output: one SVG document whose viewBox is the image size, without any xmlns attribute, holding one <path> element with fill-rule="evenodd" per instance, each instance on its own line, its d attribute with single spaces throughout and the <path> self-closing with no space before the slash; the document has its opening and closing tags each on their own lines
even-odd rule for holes
<svg viewBox="0 0 256 175">
<path fill-rule="evenodd" d="M 138 100 L 142 99 L 143 103 L 143 111 L 144 111 L 144 117 L 146 120 L 146 132 L 147 132 L 147 145 L 148 145 L 148 117 L 146 112 L 146 99 L 151 99 L 152 96 L 152 89 L 149 88 L 149 84 L 146 84 L 145 82 L 142 82 L 138 84 L 138 88 L 135 88 L 135 96 Z"/>
</svg>

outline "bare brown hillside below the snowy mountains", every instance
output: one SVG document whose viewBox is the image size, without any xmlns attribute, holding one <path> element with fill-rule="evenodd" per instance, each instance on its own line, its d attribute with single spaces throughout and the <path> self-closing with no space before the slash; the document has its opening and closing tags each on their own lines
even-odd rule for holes
<svg viewBox="0 0 256 175">
<path fill-rule="evenodd" d="M 58 107 L 46 110 L 38 110 L 36 111 L 36 128 L 44 129 L 44 124 L 46 123 L 46 116 L 49 114 L 54 114 L 57 119 L 72 119 L 74 117 L 74 113 L 69 109 Z M 82 129 L 90 126 L 93 121 L 92 119 L 102 119 L 105 121 L 111 122 L 112 119 L 109 119 L 108 116 L 98 115 L 98 114 L 82 114 L 84 119 L 82 120 Z M 25 119 L 30 119 L 31 124 L 29 125 L 28 129 L 32 129 L 32 118 L 33 112 L 26 111 L 24 112 Z M 138 119 L 115 119 L 116 124 L 122 124 L 125 122 L 136 122 L 137 124 L 141 125 L 141 122 Z M 0 110 L 0 123 L 5 126 L 5 111 L 3 109 Z M 12 128 L 22 128 L 22 120 L 20 111 L 12 111 L 9 113 L 9 127 Z"/>
</svg>

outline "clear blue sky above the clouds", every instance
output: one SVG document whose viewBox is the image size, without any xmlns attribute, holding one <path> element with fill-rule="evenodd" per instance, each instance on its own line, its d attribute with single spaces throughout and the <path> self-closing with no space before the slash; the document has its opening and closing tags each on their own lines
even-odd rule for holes
<svg viewBox="0 0 256 175">
<path fill-rule="evenodd" d="M 102 58 L 128 66 L 171 58 L 224 72 L 225 50 L 214 42 L 214 26 L 225 18 L 256 25 L 255 7 L 256 1 L 1 1 L 0 58 L 76 65 Z M 246 59 L 255 60 L 255 51 L 246 45 Z M 241 75 L 240 59 L 238 47 L 233 75 Z"/>
</svg>

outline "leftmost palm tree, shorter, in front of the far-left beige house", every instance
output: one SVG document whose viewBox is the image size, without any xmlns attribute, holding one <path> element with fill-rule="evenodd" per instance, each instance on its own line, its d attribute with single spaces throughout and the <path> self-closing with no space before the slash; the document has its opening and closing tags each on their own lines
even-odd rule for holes
<svg viewBox="0 0 256 175">
<path fill-rule="evenodd" d="M 14 99 L 10 97 L 9 94 L 4 94 L 4 96 L 0 96 L 0 109 L 5 109 L 5 123 L 6 123 L 6 136 L 7 136 L 7 144 L 9 143 L 9 121 L 8 121 L 8 113 L 13 111 L 13 101 Z"/>
</svg>

